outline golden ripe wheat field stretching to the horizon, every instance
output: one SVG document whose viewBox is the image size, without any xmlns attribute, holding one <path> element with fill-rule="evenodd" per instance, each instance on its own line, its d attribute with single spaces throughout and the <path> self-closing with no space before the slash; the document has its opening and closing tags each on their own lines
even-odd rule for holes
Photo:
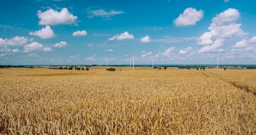
<svg viewBox="0 0 256 135">
<path fill-rule="evenodd" d="M 0 133 L 255 134 L 256 70 L 0 69 Z"/>
</svg>

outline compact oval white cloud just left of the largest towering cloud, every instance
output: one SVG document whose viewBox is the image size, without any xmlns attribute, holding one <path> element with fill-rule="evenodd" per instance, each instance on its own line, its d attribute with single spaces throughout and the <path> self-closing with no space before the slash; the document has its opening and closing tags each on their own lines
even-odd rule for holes
<svg viewBox="0 0 256 135">
<path fill-rule="evenodd" d="M 204 12 L 200 9 L 187 8 L 178 18 L 174 20 L 176 26 L 188 26 L 196 25 L 197 21 L 200 21 L 204 16 Z"/>
</svg>

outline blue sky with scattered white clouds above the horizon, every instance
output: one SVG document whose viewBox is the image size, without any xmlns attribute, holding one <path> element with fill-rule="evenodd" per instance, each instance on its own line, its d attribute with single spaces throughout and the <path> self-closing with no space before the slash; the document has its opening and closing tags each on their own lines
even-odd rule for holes
<svg viewBox="0 0 256 135">
<path fill-rule="evenodd" d="M 256 64 L 256 1 L 0 1 L 0 64 Z"/>
</svg>

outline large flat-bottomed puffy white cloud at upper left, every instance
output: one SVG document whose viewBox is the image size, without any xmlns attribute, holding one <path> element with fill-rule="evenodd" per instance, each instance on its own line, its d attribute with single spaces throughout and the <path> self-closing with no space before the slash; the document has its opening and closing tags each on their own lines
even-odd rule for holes
<svg viewBox="0 0 256 135">
<path fill-rule="evenodd" d="M 67 8 L 63 8 L 60 12 L 49 9 L 45 12 L 37 11 L 37 16 L 40 19 L 39 25 L 70 25 L 76 24 L 77 16 L 71 14 Z"/>
</svg>

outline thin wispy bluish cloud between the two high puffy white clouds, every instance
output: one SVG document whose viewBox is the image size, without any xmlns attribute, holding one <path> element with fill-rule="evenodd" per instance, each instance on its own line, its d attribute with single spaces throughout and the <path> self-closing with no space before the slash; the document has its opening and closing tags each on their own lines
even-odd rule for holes
<svg viewBox="0 0 256 135">
<path fill-rule="evenodd" d="M 101 17 L 106 17 L 106 18 L 110 18 L 111 16 L 114 16 L 116 14 L 123 14 L 125 12 L 123 11 L 115 11 L 115 10 L 110 10 L 105 11 L 104 9 L 99 9 L 99 10 L 92 10 L 88 12 L 90 15 L 88 16 L 88 18 L 93 18 L 94 16 L 101 16 Z"/>
</svg>

